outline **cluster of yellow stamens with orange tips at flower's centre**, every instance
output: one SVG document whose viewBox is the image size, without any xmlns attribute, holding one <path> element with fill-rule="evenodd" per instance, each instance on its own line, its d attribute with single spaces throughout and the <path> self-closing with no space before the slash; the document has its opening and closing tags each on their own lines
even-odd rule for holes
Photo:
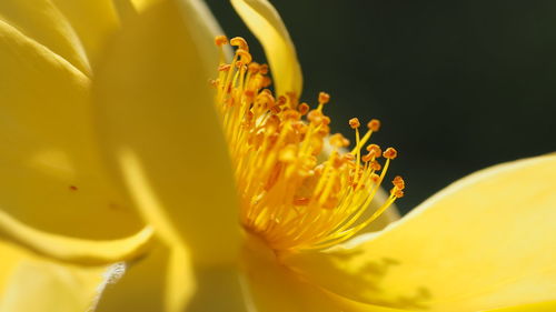
<svg viewBox="0 0 556 312">
<path fill-rule="evenodd" d="M 228 40 L 220 36 L 216 43 L 222 49 Z M 221 51 L 212 85 L 247 231 L 275 250 L 324 249 L 351 238 L 404 195 L 405 182 L 396 177 L 386 202 L 364 218 L 397 155 L 395 149 L 383 152 L 377 144 L 368 144 L 364 153 L 380 122 L 371 120 L 360 135 L 359 120 L 349 120 L 356 142 L 344 151 L 349 141 L 339 133 L 329 135 L 330 118 L 322 112 L 330 100 L 327 93 L 319 94 L 315 109 L 292 93 L 276 97 L 267 89 L 268 66 L 252 62 L 242 38 L 229 43 L 237 47 L 235 57 L 226 63 Z"/>
</svg>

